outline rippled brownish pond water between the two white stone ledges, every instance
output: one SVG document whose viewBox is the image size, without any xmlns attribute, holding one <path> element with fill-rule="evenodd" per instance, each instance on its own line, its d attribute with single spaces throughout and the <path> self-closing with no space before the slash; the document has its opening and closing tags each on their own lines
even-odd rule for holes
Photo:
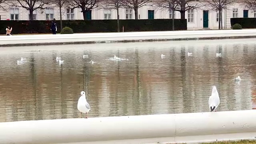
<svg viewBox="0 0 256 144">
<path fill-rule="evenodd" d="M 0 122 L 80 118 L 82 90 L 89 118 L 208 112 L 213 85 L 218 111 L 256 109 L 255 56 L 256 39 L 0 47 Z"/>
</svg>

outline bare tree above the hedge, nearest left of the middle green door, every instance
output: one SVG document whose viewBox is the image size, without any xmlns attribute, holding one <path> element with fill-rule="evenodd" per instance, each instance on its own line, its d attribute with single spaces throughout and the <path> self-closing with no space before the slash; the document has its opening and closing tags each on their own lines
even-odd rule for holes
<svg viewBox="0 0 256 144">
<path fill-rule="evenodd" d="M 123 6 L 134 10 L 135 19 L 138 19 L 138 8 L 146 6 L 151 0 L 123 0 Z"/>
</svg>

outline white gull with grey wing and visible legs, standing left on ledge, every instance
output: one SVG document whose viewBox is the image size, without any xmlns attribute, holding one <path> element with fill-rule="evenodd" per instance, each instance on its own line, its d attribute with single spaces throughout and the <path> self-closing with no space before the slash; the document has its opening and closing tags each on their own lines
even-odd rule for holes
<svg viewBox="0 0 256 144">
<path fill-rule="evenodd" d="M 87 118 L 87 112 L 89 112 L 91 110 L 91 108 L 86 100 L 84 91 L 81 92 L 81 96 L 77 103 L 77 109 L 81 112 L 81 118 L 82 118 L 82 113 L 84 113 L 85 118 Z"/>
</svg>

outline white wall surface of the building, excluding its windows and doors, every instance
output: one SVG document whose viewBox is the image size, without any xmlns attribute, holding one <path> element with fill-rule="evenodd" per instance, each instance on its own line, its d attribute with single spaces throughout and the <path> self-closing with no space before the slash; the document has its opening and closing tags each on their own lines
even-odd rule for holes
<svg viewBox="0 0 256 144">
<path fill-rule="evenodd" d="M 147 6 L 143 6 L 139 8 L 138 10 L 138 17 L 139 19 L 148 19 L 148 10 L 154 10 L 154 19 L 162 19 L 162 18 L 170 18 L 169 10 L 157 8 L 155 6 L 150 6 L 151 4 L 148 4 Z M 57 6 L 51 5 L 46 6 L 50 8 L 54 8 L 54 18 L 56 20 L 60 19 L 60 12 L 59 8 Z M 6 11 L 0 10 L 0 16 L 1 20 L 8 20 L 11 19 L 11 11 L 10 8 L 15 7 L 7 7 Z M 18 8 L 18 20 L 28 20 L 29 19 L 29 12 L 25 8 L 16 7 Z M 229 5 L 227 9 L 223 10 L 222 12 L 222 25 L 223 28 L 230 29 L 230 18 L 233 17 L 233 9 L 238 9 L 238 17 L 243 17 L 243 10 L 247 10 L 247 8 L 244 8 L 241 3 L 235 3 L 232 5 Z M 212 11 L 207 7 L 200 7 L 194 10 L 194 20 L 193 22 L 188 22 L 188 30 L 198 30 L 203 28 L 203 10 L 209 10 L 208 12 L 208 28 L 210 29 L 218 29 L 218 22 L 217 22 L 217 12 Z M 120 19 L 126 19 L 126 10 L 124 8 L 120 8 L 119 10 Z M 92 10 L 92 19 L 93 20 L 102 20 L 104 19 L 104 12 L 106 10 L 95 8 Z M 36 20 L 46 20 L 46 10 L 44 12 L 41 12 L 39 9 L 34 12 L 36 14 Z M 116 19 L 117 18 L 117 12 L 116 10 L 112 9 L 110 12 L 110 19 Z M 254 17 L 254 10 L 248 10 L 248 17 L 253 18 Z M 132 10 L 132 19 L 134 19 L 134 10 Z M 175 18 L 180 18 L 180 12 L 175 11 Z M 67 12 L 66 8 L 62 8 L 62 19 L 67 20 Z M 80 10 L 80 8 L 74 9 L 74 19 L 75 20 L 82 20 L 83 14 Z M 188 11 L 186 12 L 186 19 L 188 19 Z"/>
</svg>

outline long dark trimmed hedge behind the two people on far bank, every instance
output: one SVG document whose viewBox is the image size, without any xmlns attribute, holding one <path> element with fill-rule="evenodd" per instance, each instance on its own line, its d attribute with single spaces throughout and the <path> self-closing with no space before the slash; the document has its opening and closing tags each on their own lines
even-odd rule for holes
<svg viewBox="0 0 256 144">
<path fill-rule="evenodd" d="M 60 33 L 60 21 L 56 20 L 57 33 Z M 117 32 L 116 20 L 62 20 L 63 27 L 72 28 L 74 33 Z M 6 34 L 5 28 L 12 27 L 13 34 L 51 33 L 49 20 L 0 20 L 0 34 Z M 120 20 L 120 31 L 169 31 L 172 30 L 172 19 Z M 174 19 L 174 30 L 187 30 L 186 19 Z"/>
</svg>

